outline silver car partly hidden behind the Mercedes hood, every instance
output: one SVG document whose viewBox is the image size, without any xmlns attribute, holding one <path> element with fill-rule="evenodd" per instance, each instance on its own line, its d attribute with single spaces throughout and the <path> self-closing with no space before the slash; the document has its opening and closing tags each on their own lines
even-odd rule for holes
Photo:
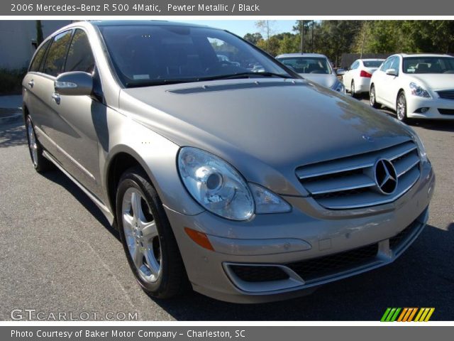
<svg viewBox="0 0 454 341">
<path fill-rule="evenodd" d="M 292 70 L 306 78 L 306 80 L 311 80 L 323 85 L 323 87 L 345 94 L 345 87 L 337 77 L 338 75 L 343 75 L 343 71 L 339 73 L 334 71 L 326 55 L 319 53 L 286 53 L 278 55 L 276 59 L 287 67 L 291 67 Z"/>
</svg>

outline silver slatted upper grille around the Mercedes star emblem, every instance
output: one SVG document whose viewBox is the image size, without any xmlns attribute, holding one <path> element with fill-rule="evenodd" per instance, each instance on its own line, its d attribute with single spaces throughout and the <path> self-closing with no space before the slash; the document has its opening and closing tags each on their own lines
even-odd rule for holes
<svg viewBox="0 0 454 341">
<path fill-rule="evenodd" d="M 380 192 L 375 182 L 375 163 L 388 160 L 398 183 L 392 195 Z M 297 177 L 320 205 L 331 210 L 370 207 L 392 202 L 404 195 L 419 178 L 419 153 L 413 141 L 389 148 L 313 163 L 297 168 Z"/>
</svg>

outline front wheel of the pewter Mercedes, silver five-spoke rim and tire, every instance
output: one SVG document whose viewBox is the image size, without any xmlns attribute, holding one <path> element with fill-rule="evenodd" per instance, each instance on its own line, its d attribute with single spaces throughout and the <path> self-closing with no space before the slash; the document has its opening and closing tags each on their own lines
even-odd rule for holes
<svg viewBox="0 0 454 341">
<path fill-rule="evenodd" d="M 189 288 L 162 202 L 140 167 L 130 168 L 121 176 L 116 221 L 129 266 L 145 293 L 171 298 Z"/>
</svg>

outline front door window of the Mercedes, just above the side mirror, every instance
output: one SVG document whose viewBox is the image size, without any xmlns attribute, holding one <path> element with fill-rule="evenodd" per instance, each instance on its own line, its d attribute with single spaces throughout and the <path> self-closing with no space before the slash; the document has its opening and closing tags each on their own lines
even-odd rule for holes
<svg viewBox="0 0 454 341">
<path fill-rule="evenodd" d="M 92 73 L 94 58 L 87 34 L 77 29 L 72 37 L 66 60 L 65 71 L 84 71 Z"/>
</svg>

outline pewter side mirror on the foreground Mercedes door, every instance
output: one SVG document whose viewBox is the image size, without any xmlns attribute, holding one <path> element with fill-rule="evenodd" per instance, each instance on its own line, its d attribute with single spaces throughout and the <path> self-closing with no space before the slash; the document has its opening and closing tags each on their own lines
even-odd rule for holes
<svg viewBox="0 0 454 341">
<path fill-rule="evenodd" d="M 62 73 L 54 82 L 55 92 L 70 96 L 90 95 L 93 92 L 93 77 L 87 72 Z"/>
</svg>

